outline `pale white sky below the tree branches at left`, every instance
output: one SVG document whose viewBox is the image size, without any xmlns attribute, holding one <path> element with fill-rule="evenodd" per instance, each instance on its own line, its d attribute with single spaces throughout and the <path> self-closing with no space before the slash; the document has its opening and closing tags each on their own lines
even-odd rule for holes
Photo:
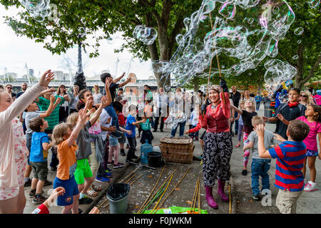
<svg viewBox="0 0 321 228">
<path fill-rule="evenodd" d="M 6 11 L 4 6 L 0 4 L 0 75 L 4 74 L 4 68 L 6 68 L 7 72 L 18 73 L 19 76 L 23 76 L 26 74 L 24 70 L 25 65 L 28 68 L 34 69 L 35 76 L 39 76 L 39 72 L 43 73 L 48 69 L 68 73 L 67 68 L 61 67 L 63 56 L 70 58 L 76 64 L 78 49 L 76 47 L 71 48 L 66 54 L 61 56 L 53 55 L 50 51 L 43 48 L 44 43 L 36 43 L 26 36 L 17 36 L 11 27 L 4 24 L 3 16 L 15 16 L 19 10 L 25 9 L 11 7 Z M 126 72 L 126 75 L 131 72 L 136 73 L 138 79 L 147 79 L 153 76 L 150 61 L 141 63 L 139 59 L 133 58 L 131 62 L 132 54 L 129 51 L 114 53 L 113 50 L 121 47 L 123 43 L 120 35 L 115 37 L 111 43 L 108 43 L 106 40 L 100 41 L 100 56 L 97 58 L 89 58 L 88 54 L 83 53 L 83 72 L 85 76 L 100 75 L 101 71 L 107 69 L 112 75 L 116 75 L 117 58 L 119 59 L 117 76 L 121 76 L 123 72 Z M 131 68 L 130 72 L 128 72 L 130 62 Z M 76 66 L 74 68 L 76 71 Z"/>
</svg>

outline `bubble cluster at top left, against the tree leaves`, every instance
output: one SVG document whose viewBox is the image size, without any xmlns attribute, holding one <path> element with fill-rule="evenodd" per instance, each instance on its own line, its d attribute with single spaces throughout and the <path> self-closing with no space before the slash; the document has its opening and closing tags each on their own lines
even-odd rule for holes
<svg viewBox="0 0 321 228">
<path fill-rule="evenodd" d="M 26 11 L 38 22 L 51 15 L 50 0 L 20 0 Z"/>
</svg>

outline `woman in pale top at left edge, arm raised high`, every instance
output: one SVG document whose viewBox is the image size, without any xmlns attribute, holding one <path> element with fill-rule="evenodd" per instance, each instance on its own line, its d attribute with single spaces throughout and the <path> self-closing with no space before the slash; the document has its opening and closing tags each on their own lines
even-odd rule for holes
<svg viewBox="0 0 321 228">
<path fill-rule="evenodd" d="M 9 93 L 0 90 L 0 214 L 22 214 L 26 205 L 24 196 L 24 169 L 29 151 L 26 147 L 19 116 L 54 79 L 51 70 L 12 102 Z"/>
</svg>

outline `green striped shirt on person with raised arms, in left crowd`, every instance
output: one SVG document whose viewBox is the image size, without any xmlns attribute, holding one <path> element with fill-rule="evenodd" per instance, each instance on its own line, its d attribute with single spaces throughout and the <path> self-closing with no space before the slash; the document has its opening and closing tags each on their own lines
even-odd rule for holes
<svg viewBox="0 0 321 228">
<path fill-rule="evenodd" d="M 59 96 L 55 95 L 55 98 L 57 99 Z M 44 118 L 48 121 L 49 127 L 46 130 L 53 130 L 56 125 L 59 123 L 59 107 L 62 103 L 65 102 L 65 99 L 63 97 L 61 98 L 61 102 L 57 105 L 57 107 L 52 111 L 52 113 L 49 115 L 49 117 Z M 55 99 L 55 101 L 56 101 Z M 41 111 L 46 111 L 49 108 L 50 100 L 39 97 L 39 101 L 37 102 L 37 105 L 39 106 Z"/>
</svg>

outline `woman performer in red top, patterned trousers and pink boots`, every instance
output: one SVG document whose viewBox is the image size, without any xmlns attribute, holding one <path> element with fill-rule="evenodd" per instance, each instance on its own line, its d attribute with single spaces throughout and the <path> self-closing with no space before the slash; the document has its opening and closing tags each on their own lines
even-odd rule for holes
<svg viewBox="0 0 321 228">
<path fill-rule="evenodd" d="M 228 86 L 220 78 L 220 86 L 210 87 L 210 105 L 202 105 L 200 124 L 207 128 L 204 137 L 203 178 L 206 190 L 206 201 L 214 209 L 218 204 L 213 199 L 213 186 L 218 179 L 218 195 L 225 202 L 228 196 L 224 193 L 225 182 L 230 180 L 230 156 L 233 145 L 228 119 L 230 118 L 230 100 Z"/>
</svg>

